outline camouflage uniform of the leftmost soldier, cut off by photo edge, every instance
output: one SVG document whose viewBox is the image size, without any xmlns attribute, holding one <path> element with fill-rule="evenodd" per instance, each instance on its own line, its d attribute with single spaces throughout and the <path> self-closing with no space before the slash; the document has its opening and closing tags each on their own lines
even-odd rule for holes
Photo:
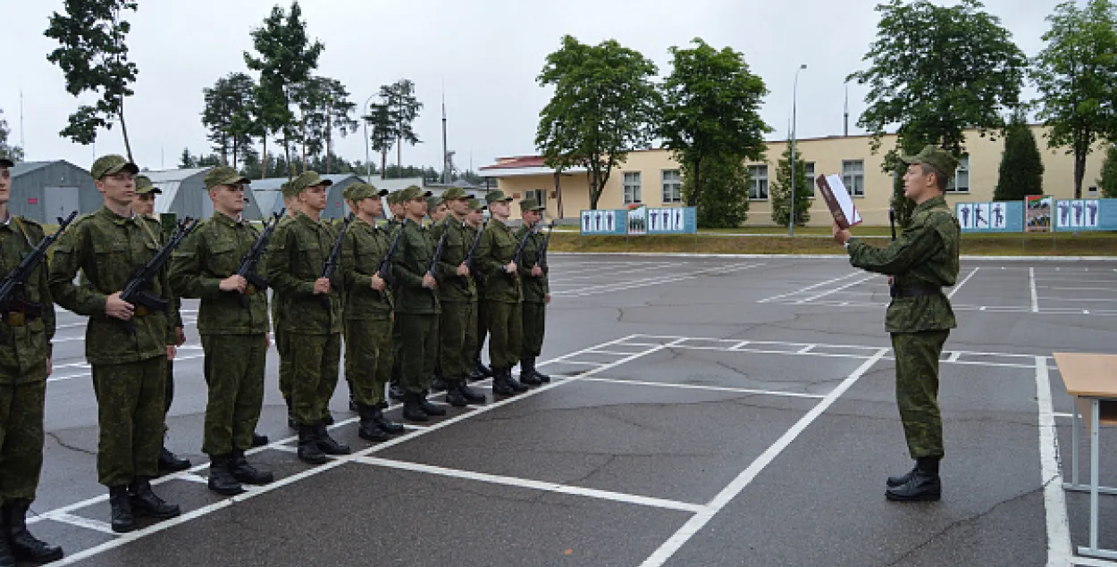
<svg viewBox="0 0 1117 567">
<path fill-rule="evenodd" d="M 0 224 L 0 273 L 9 273 L 42 240 L 42 227 L 22 217 Z M 46 260 L 27 280 L 23 298 L 42 306 L 38 317 L 13 311 L 0 320 L 0 500 L 30 504 L 42 470 L 47 358 L 55 306 Z M 22 319 L 22 320 L 20 320 Z"/>
</svg>

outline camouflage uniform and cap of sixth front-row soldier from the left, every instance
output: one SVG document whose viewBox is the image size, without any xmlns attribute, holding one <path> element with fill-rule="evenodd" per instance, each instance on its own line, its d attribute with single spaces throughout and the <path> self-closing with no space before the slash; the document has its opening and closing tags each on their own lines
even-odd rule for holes
<svg viewBox="0 0 1117 567">
<path fill-rule="evenodd" d="M 418 188 L 401 192 L 401 201 L 421 195 Z M 413 195 L 413 196 L 412 196 Z M 407 222 L 399 248 L 392 258 L 395 277 L 395 321 L 400 328 L 400 369 L 408 395 L 421 396 L 430 387 L 438 357 L 438 316 L 441 307 L 438 294 L 422 287 L 423 275 L 435 254 L 435 239 L 430 230 L 418 222 Z"/>
</svg>

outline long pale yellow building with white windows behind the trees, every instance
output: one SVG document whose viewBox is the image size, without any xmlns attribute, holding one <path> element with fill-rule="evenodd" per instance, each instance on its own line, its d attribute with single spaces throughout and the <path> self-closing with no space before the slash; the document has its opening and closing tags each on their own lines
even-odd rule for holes
<svg viewBox="0 0 1117 567">
<path fill-rule="evenodd" d="M 1073 158 L 1065 148 L 1048 150 L 1044 126 L 1032 126 L 1040 153 L 1043 156 L 1043 192 L 1056 199 L 1072 199 L 1075 193 Z M 786 141 L 767 143 L 764 163 L 750 163 L 750 208 L 747 225 L 772 225 L 768 185 L 775 181 L 776 164 L 786 150 Z M 888 201 L 892 193 L 891 175 L 881 171 L 885 154 L 896 145 L 895 135 L 886 135 L 877 153 L 870 150 L 870 137 L 831 136 L 799 140 L 796 147 L 813 180 L 825 173 L 841 174 L 847 189 L 866 224 L 888 224 Z M 1004 151 L 1000 136 L 981 137 L 976 129 L 966 133 L 968 154 L 958 164 L 958 171 L 947 192 L 952 204 L 965 201 L 992 201 L 996 186 L 997 169 Z M 1087 160 L 1082 179 L 1082 196 L 1097 198 L 1097 180 L 1101 174 L 1102 150 L 1096 150 Z M 538 156 L 503 157 L 497 163 L 480 169 L 480 174 L 497 181 L 497 188 L 515 198 L 516 202 L 534 196 L 547 208 L 547 217 L 576 219 L 579 211 L 590 208 L 589 184 L 584 169 L 565 170 L 555 175 Z M 628 161 L 615 167 L 598 202 L 599 209 L 623 209 L 631 203 L 648 206 L 682 206 L 682 180 L 679 164 L 668 150 L 630 152 Z M 811 184 L 813 188 L 813 183 Z M 516 203 L 513 203 L 514 205 Z M 519 209 L 513 209 L 514 215 Z M 811 204 L 811 224 L 829 225 L 830 214 L 821 199 Z"/>
</svg>

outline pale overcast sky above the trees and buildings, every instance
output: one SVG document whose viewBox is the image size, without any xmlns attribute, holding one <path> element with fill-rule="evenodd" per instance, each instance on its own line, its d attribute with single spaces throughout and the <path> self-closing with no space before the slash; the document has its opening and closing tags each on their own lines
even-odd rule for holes
<svg viewBox="0 0 1117 567">
<path fill-rule="evenodd" d="M 200 122 L 202 88 L 233 71 L 247 71 L 249 31 L 274 0 L 139 0 L 128 12 L 131 60 L 140 67 L 125 116 L 136 161 L 159 170 L 175 167 L 183 147 L 209 152 Z M 876 32 L 875 0 L 304 0 L 311 37 L 325 44 L 318 75 L 340 79 L 361 106 L 381 85 L 416 83 L 424 107 L 416 122 L 422 143 L 404 146 L 405 164 L 438 166 L 440 99 L 446 93 L 449 148 L 465 170 L 498 156 L 534 154 L 538 112 L 550 90 L 535 77 L 563 35 L 596 44 L 614 38 L 670 73 L 668 48 L 701 37 L 715 48 L 744 52 L 771 94 L 762 115 L 785 138 L 799 79 L 799 136 L 841 134 L 844 77 L 863 68 Z M 938 0 L 939 4 L 956 2 Z M 1057 0 L 989 0 L 1029 56 L 1041 48 L 1044 18 Z M 61 71 L 47 61 L 57 44 L 42 31 L 60 0 L 0 0 L 4 22 L 0 52 L 0 109 L 21 135 L 27 158 L 63 158 L 88 167 L 98 155 L 120 152 L 118 127 L 101 132 L 96 147 L 59 137 L 79 102 L 66 93 Z M 284 6 L 289 6 L 284 2 Z M 20 128 L 22 92 L 23 127 Z M 1025 96 L 1032 90 L 1027 89 Z M 865 90 L 850 85 L 850 132 L 865 107 Z M 336 143 L 349 160 L 364 160 L 360 132 Z M 275 146 L 269 146 L 273 150 Z M 379 163 L 379 158 L 375 158 Z M 389 157 L 389 163 L 394 156 Z"/>
</svg>

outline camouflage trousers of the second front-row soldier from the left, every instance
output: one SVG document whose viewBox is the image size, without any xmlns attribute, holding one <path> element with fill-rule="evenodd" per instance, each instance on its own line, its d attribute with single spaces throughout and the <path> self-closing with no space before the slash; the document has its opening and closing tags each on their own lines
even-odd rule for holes
<svg viewBox="0 0 1117 567">
<path fill-rule="evenodd" d="M 97 397 L 97 481 L 106 487 L 159 474 L 165 426 L 166 357 L 94 364 Z"/>
</svg>

